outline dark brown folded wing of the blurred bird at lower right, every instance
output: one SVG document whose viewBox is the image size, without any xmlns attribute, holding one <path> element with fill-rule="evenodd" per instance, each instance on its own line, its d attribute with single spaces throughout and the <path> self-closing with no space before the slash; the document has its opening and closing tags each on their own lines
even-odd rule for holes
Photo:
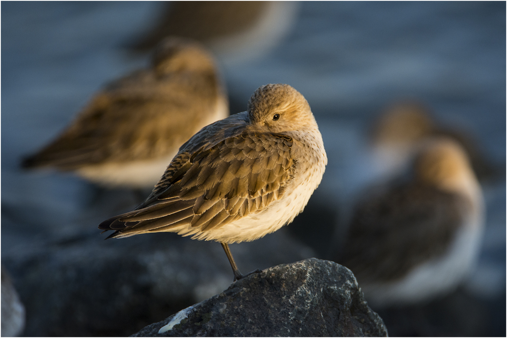
<svg viewBox="0 0 507 338">
<path fill-rule="evenodd" d="M 446 250 L 467 200 L 411 184 L 370 198 L 355 211 L 341 264 L 363 282 L 403 278 Z"/>
</svg>

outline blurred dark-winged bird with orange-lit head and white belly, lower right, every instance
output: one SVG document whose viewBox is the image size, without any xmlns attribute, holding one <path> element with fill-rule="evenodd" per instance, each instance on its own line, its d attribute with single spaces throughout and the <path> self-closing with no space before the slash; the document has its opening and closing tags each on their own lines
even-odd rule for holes
<svg viewBox="0 0 507 338">
<path fill-rule="evenodd" d="M 477 264 L 484 198 L 455 140 L 421 144 L 408 173 L 366 189 L 335 260 L 377 308 L 421 304 L 454 290 Z"/>
</svg>

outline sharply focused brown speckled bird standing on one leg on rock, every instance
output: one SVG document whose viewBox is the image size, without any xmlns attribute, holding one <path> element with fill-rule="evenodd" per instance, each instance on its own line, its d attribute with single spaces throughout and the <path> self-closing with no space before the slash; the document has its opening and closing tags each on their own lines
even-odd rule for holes
<svg viewBox="0 0 507 338">
<path fill-rule="evenodd" d="M 251 95 L 247 111 L 185 142 L 148 198 L 99 229 L 114 231 L 107 238 L 174 232 L 220 242 L 236 281 L 249 274 L 240 273 L 229 244 L 259 239 L 292 222 L 327 161 L 304 96 L 286 84 L 267 84 Z"/>
</svg>

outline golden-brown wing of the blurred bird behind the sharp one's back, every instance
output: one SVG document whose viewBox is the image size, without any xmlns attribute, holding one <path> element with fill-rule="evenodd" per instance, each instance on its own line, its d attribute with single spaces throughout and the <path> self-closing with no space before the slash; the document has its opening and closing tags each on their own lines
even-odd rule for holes
<svg viewBox="0 0 507 338">
<path fill-rule="evenodd" d="M 97 94 L 58 138 L 23 166 L 72 170 L 174 153 L 212 115 L 216 90 L 206 93 L 195 84 L 137 72 Z"/>
</svg>

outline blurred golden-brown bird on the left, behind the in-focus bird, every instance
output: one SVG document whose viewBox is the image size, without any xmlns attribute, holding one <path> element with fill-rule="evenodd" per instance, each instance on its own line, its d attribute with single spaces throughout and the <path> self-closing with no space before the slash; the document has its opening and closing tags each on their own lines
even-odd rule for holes
<svg viewBox="0 0 507 338">
<path fill-rule="evenodd" d="M 228 115 L 213 56 L 195 41 L 168 37 L 150 67 L 107 85 L 21 165 L 73 171 L 105 187 L 152 189 L 180 145 Z"/>
</svg>

